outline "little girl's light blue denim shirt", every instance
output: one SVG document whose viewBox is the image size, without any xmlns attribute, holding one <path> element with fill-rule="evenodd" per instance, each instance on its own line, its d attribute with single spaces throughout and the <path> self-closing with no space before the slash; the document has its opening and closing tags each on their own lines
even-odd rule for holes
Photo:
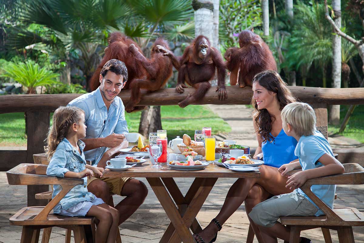
<svg viewBox="0 0 364 243">
<path fill-rule="evenodd" d="M 85 144 L 81 140 L 78 140 L 77 144 L 80 147 L 81 154 L 76 151 L 67 138 L 62 139 L 47 167 L 47 176 L 64 177 L 64 174 L 68 171 L 78 173 L 86 169 L 86 160 L 83 154 Z M 54 185 L 52 199 L 60 191 L 62 191 L 62 187 L 60 185 Z M 67 210 L 81 201 L 91 201 L 94 198 L 96 198 L 95 195 L 87 191 L 87 177 L 84 177 L 83 184 L 76 185 L 72 188 L 56 207 L 54 207 L 53 212 L 60 213 L 61 206 L 64 210 Z"/>
</svg>

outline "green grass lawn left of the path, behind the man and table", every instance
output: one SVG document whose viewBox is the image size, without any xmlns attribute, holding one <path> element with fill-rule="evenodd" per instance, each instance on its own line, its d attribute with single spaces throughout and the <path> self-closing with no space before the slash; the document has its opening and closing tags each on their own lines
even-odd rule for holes
<svg viewBox="0 0 364 243">
<path fill-rule="evenodd" d="M 126 113 L 129 132 L 138 132 L 141 112 Z M 213 134 L 228 133 L 230 126 L 207 106 L 162 106 L 162 128 L 167 130 L 168 140 L 189 134 L 193 139 L 195 130 L 207 126 Z M 0 114 L 0 146 L 26 146 L 24 113 Z"/>
</svg>

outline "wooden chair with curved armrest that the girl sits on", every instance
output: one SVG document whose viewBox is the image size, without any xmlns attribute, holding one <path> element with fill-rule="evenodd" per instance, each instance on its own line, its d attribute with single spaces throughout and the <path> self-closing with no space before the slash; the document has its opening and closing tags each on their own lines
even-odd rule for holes
<svg viewBox="0 0 364 243">
<path fill-rule="evenodd" d="M 36 243 L 42 228 L 61 227 L 74 231 L 75 242 L 93 243 L 94 217 L 69 217 L 50 213 L 59 201 L 82 179 L 60 178 L 46 175 L 46 165 L 20 164 L 6 172 L 9 185 L 61 185 L 62 191 L 45 207 L 25 207 L 10 219 L 10 225 L 23 226 L 21 243 Z"/>
</svg>

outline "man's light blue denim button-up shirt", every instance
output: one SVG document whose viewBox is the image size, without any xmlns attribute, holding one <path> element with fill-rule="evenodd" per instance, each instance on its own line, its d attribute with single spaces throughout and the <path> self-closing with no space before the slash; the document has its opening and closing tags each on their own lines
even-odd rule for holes
<svg viewBox="0 0 364 243">
<path fill-rule="evenodd" d="M 116 96 L 107 110 L 100 88 L 88 94 L 72 100 L 67 106 L 76 106 L 85 112 L 86 137 L 104 138 L 112 133 L 128 133 L 128 125 L 124 115 L 124 104 L 120 97 Z M 86 160 L 90 160 L 96 166 L 107 147 L 100 147 L 85 151 Z"/>
</svg>

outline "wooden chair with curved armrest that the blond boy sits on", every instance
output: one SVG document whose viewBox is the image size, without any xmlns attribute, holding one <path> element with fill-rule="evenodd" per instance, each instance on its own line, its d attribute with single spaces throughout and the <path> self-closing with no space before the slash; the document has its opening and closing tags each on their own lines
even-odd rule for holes
<svg viewBox="0 0 364 243">
<path fill-rule="evenodd" d="M 312 228 L 327 229 L 325 241 L 331 241 L 329 229 L 337 230 L 340 243 L 354 243 L 352 226 L 364 226 L 364 214 L 356 208 L 329 208 L 311 191 L 312 185 L 360 185 L 364 184 L 364 169 L 359 164 L 344 164 L 345 173 L 324 176 L 306 181 L 302 191 L 325 213 L 324 216 L 289 216 L 280 217 L 281 223 L 290 226 L 290 243 L 300 242 L 300 232 Z M 323 231 L 324 232 L 324 231 Z"/>
</svg>

